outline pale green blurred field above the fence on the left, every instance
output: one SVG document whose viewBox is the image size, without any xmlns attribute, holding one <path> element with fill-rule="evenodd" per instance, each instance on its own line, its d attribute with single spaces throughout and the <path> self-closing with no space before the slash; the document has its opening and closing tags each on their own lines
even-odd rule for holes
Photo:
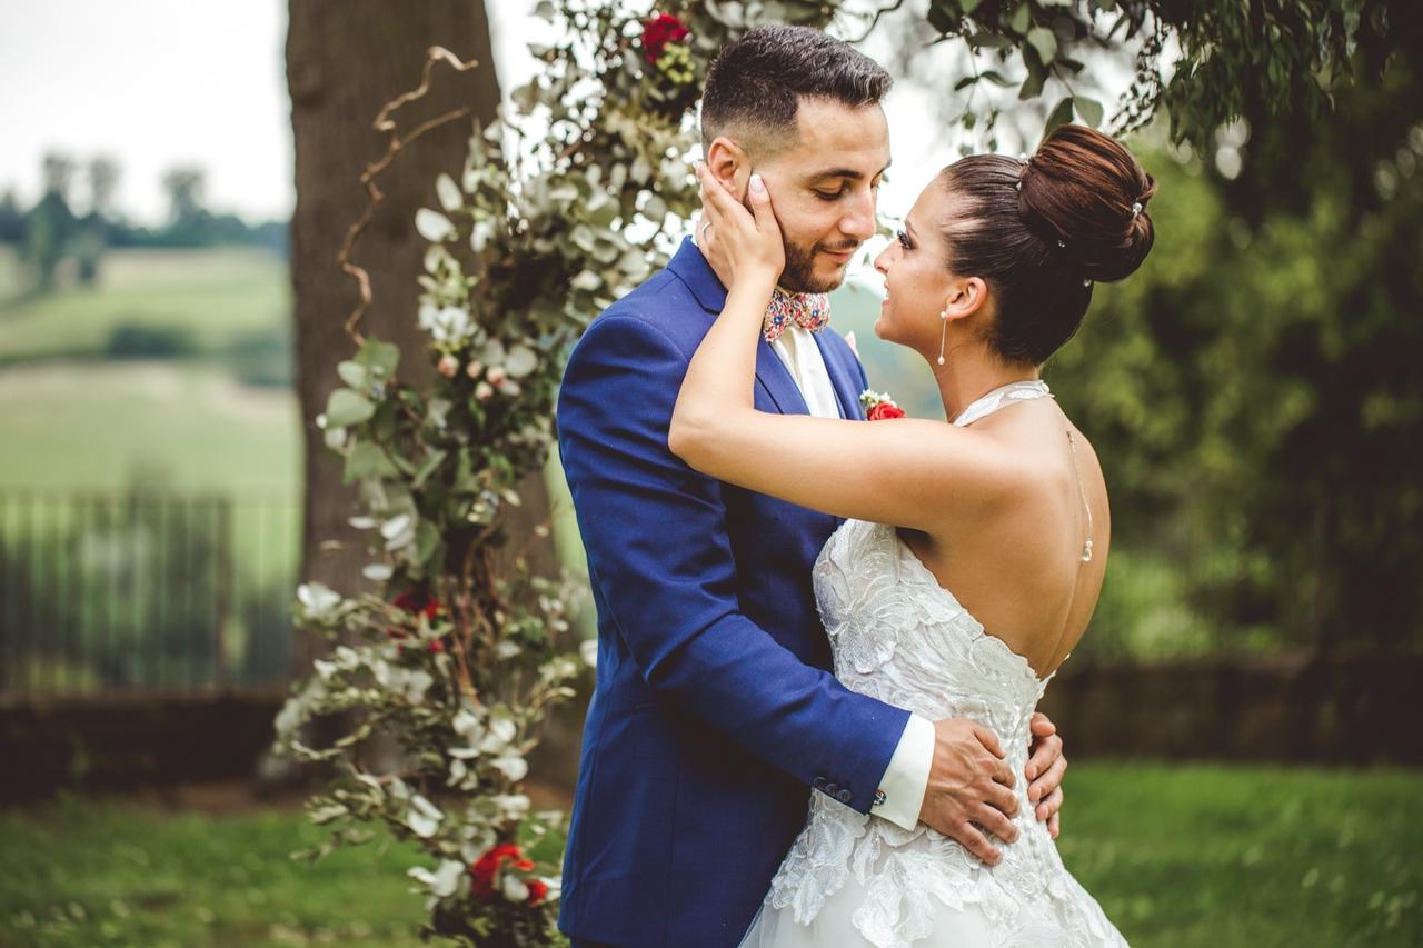
<svg viewBox="0 0 1423 948">
<path fill-rule="evenodd" d="M 16 296 L 0 248 L 0 487 L 300 484 L 290 389 L 245 386 L 216 353 L 290 319 L 286 262 L 248 248 L 112 251 L 95 288 Z M 184 330 L 194 353 L 97 359 L 121 326 Z"/>
</svg>

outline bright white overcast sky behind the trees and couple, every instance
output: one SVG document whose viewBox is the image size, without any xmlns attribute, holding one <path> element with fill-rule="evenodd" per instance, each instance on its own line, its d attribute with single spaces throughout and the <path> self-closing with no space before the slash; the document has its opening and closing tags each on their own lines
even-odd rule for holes
<svg viewBox="0 0 1423 948">
<path fill-rule="evenodd" d="M 487 7 L 508 90 L 534 68 L 524 48 L 532 0 Z M 161 178 L 178 164 L 206 172 L 216 211 L 249 221 L 290 215 L 286 0 L 0 0 L 0 191 L 16 188 L 31 202 L 41 157 L 55 149 L 81 165 L 117 158 L 117 205 L 141 221 L 165 214 Z M 417 75 L 418 63 L 411 70 Z M 881 208 L 891 214 L 906 212 L 952 158 L 928 137 L 926 95 L 899 84 L 885 104 L 895 174 Z M 83 186 L 75 191 L 81 198 Z"/>
</svg>

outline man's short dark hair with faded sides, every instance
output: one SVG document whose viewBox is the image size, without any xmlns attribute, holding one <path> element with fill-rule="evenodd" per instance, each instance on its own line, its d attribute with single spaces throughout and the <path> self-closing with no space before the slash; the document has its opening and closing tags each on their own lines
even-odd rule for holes
<svg viewBox="0 0 1423 948">
<path fill-rule="evenodd" d="M 858 108 L 877 104 L 892 83 L 878 63 L 820 30 L 756 27 L 723 48 L 707 70 L 702 147 L 727 135 L 748 151 L 774 148 L 794 135 L 801 97 Z"/>
</svg>

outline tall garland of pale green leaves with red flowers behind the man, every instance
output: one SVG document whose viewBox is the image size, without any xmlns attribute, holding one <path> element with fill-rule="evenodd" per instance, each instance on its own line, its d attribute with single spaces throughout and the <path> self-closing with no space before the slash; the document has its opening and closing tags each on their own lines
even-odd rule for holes
<svg viewBox="0 0 1423 948">
<path fill-rule="evenodd" d="M 333 827 L 314 855 L 366 838 L 369 823 L 418 840 L 434 865 L 410 875 L 427 892 L 431 934 L 559 938 L 564 817 L 531 813 L 519 787 L 549 706 L 582 673 L 562 645 L 581 585 L 531 576 L 518 554 L 509 575 L 495 551 L 517 485 L 546 461 L 564 353 L 665 262 L 694 208 L 690 110 L 710 54 L 773 13 L 825 21 L 820 3 L 774 7 L 689 3 L 676 38 L 645 43 L 646 24 L 619 0 L 539 4 L 561 38 L 534 50 L 538 78 L 474 130 L 458 177 L 434 182 L 438 209 L 414 219 L 430 242 L 418 322 L 434 386 L 403 381 L 403 354 L 364 339 L 317 418 L 359 485 L 351 524 L 376 554 L 363 572 L 386 591 L 297 591 L 299 623 L 342 645 L 287 702 L 279 747 L 340 774 L 310 804 Z M 306 744 L 313 722 L 333 716 L 346 733 Z M 398 774 L 367 770 L 363 747 L 381 733 L 408 762 Z M 507 846 L 524 851 L 490 868 Z"/>
</svg>

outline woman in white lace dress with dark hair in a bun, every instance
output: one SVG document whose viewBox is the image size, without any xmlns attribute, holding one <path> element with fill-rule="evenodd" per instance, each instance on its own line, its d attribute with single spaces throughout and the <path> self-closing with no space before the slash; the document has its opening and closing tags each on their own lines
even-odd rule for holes
<svg viewBox="0 0 1423 948">
<path fill-rule="evenodd" d="M 1153 242 L 1155 185 L 1079 125 L 1032 158 L 945 168 L 877 259 L 875 333 L 929 364 L 949 424 L 754 410 L 756 346 L 784 266 L 773 195 L 750 211 L 706 172 L 699 242 L 729 288 L 692 360 L 669 443 L 696 470 L 847 518 L 814 567 L 835 675 L 931 720 L 1003 737 L 1029 719 L 1091 618 L 1111 522 L 1101 467 L 1039 367 L 1081 323 L 1094 280 Z M 906 831 L 811 794 L 744 947 L 1123 945 L 1063 868 L 1017 784 L 1019 836 L 989 867 L 924 823 Z M 985 830 L 988 833 L 988 830 Z"/>
</svg>

